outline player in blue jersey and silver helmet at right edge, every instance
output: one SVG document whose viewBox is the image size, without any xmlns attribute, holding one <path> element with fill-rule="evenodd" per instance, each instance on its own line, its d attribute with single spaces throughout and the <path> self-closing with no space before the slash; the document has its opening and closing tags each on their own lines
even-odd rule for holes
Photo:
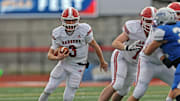
<svg viewBox="0 0 180 101">
<path fill-rule="evenodd" d="M 144 50 L 146 55 L 151 55 L 160 47 L 167 58 L 163 60 L 168 67 L 176 67 L 173 95 L 180 101 L 180 22 L 176 20 L 176 13 L 170 8 L 161 8 L 154 19 L 156 28 L 153 30 L 154 39 Z"/>
</svg>

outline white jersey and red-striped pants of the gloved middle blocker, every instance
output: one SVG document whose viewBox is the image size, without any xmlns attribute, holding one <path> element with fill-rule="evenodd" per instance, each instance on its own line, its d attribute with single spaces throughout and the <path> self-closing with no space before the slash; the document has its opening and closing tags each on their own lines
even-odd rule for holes
<svg viewBox="0 0 180 101">
<path fill-rule="evenodd" d="M 129 40 L 124 44 L 129 45 L 137 40 L 144 44 L 146 34 L 140 20 L 127 21 L 123 27 Z M 134 51 L 121 51 L 115 49 L 111 56 L 112 87 L 124 96 L 129 91 L 132 83 L 135 81 L 137 71 L 137 59 L 141 49 Z"/>
</svg>

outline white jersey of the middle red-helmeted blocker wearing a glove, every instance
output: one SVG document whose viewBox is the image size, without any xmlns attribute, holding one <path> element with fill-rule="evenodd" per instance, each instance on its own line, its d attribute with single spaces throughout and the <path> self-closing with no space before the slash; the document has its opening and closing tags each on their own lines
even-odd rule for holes
<svg viewBox="0 0 180 101">
<path fill-rule="evenodd" d="M 124 42 L 125 45 L 130 45 L 137 40 L 141 40 L 142 44 L 144 44 L 144 41 L 146 40 L 146 34 L 144 33 L 140 20 L 127 21 L 123 27 L 123 31 L 126 32 L 129 37 L 129 40 Z M 141 50 L 120 52 L 123 53 L 123 57 L 127 61 L 131 63 L 137 63 L 140 51 Z"/>
</svg>

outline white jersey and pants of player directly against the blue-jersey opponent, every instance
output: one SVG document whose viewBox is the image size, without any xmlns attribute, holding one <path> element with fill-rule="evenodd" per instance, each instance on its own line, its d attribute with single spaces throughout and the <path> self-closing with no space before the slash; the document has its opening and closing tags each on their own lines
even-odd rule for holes
<svg viewBox="0 0 180 101">
<path fill-rule="evenodd" d="M 153 35 L 154 33 L 150 32 L 143 49 L 153 41 Z M 175 68 L 172 67 L 168 69 L 164 64 L 162 64 L 160 61 L 161 56 L 163 56 L 163 53 L 160 48 L 153 52 L 151 56 L 145 55 L 143 50 L 140 52 L 137 85 L 133 92 L 133 96 L 136 99 L 140 99 L 145 94 L 148 85 L 153 78 L 159 78 L 169 86 L 172 85 Z"/>
</svg>

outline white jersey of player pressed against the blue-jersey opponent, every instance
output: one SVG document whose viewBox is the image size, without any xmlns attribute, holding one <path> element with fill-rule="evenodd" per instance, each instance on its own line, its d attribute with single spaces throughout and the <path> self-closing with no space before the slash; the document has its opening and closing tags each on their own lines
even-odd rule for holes
<svg viewBox="0 0 180 101">
<path fill-rule="evenodd" d="M 154 33 L 151 30 L 145 42 L 143 50 L 147 47 L 147 45 L 149 45 L 153 41 L 153 38 L 154 38 Z M 153 64 L 162 64 L 162 62 L 160 61 L 160 57 L 163 56 L 163 52 L 160 48 L 156 49 L 155 52 L 153 52 L 150 56 L 145 55 L 143 50 L 140 52 L 140 58 L 152 62 Z"/>
</svg>

